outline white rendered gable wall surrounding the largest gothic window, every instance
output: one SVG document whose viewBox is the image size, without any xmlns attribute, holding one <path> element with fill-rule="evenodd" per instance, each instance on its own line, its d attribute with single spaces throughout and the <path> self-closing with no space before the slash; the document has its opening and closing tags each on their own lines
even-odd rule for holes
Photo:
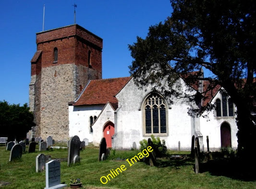
<svg viewBox="0 0 256 189">
<path fill-rule="evenodd" d="M 180 82 L 183 82 L 181 79 Z M 143 131 L 143 115 L 141 104 L 147 94 L 150 93 L 150 88 L 139 90 L 134 85 L 131 79 L 127 85 L 116 95 L 119 101 L 119 109 L 115 114 L 115 132 L 113 139 L 113 148 L 131 148 L 133 143 L 139 147 L 139 141 L 148 139 L 150 136 L 145 136 Z M 173 99 L 174 104 L 170 106 L 167 113 L 167 135 L 154 134 L 155 137 L 160 137 L 166 141 L 168 148 L 178 149 L 180 141 L 182 149 L 191 147 L 192 131 L 194 126 L 191 122 L 191 117 L 187 114 L 191 106 L 183 100 Z"/>
</svg>

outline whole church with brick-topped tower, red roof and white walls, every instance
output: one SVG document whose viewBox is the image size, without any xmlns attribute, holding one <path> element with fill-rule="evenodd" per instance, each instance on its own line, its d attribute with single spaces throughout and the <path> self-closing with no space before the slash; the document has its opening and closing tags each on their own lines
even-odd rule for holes
<svg viewBox="0 0 256 189">
<path fill-rule="evenodd" d="M 201 150 L 207 138 L 211 150 L 237 147 L 235 106 L 220 86 L 199 105 L 182 98 L 169 103 L 153 86 L 138 89 L 133 77 L 102 79 L 103 40 L 78 24 L 37 33 L 36 42 L 29 84 L 36 123 L 31 137 L 67 141 L 78 135 L 94 145 L 105 137 L 108 147 L 131 149 L 153 134 L 169 149 L 189 150 L 194 135 Z M 183 77 L 176 83 L 191 94 L 209 85 L 202 81 L 195 87 Z M 187 113 L 208 103 L 216 108 L 204 112 L 207 118 Z"/>
</svg>

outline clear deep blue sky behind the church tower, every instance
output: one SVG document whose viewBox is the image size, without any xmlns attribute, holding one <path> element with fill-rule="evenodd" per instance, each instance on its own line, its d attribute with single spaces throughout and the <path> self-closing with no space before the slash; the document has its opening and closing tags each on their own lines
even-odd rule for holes
<svg viewBox="0 0 256 189">
<path fill-rule="evenodd" d="M 76 23 L 103 39 L 102 77 L 129 76 L 128 44 L 171 15 L 169 0 L 0 0 L 0 101 L 28 103 L 36 33 Z"/>
</svg>

